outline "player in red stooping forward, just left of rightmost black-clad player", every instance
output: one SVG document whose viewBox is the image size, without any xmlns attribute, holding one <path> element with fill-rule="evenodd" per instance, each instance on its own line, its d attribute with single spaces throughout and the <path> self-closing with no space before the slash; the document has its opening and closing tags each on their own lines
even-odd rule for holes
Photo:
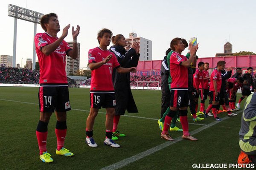
<svg viewBox="0 0 256 170">
<path fill-rule="evenodd" d="M 229 93 L 230 93 L 229 105 L 230 105 L 230 108 L 231 108 L 230 111 L 236 111 L 236 106 L 235 106 L 236 92 L 239 88 L 242 87 L 244 79 L 242 77 L 239 77 L 238 79 L 230 78 L 230 79 L 227 80 L 227 82 L 232 82 L 233 83 L 233 88 L 230 89 L 230 91 L 229 91 Z"/>
</svg>

